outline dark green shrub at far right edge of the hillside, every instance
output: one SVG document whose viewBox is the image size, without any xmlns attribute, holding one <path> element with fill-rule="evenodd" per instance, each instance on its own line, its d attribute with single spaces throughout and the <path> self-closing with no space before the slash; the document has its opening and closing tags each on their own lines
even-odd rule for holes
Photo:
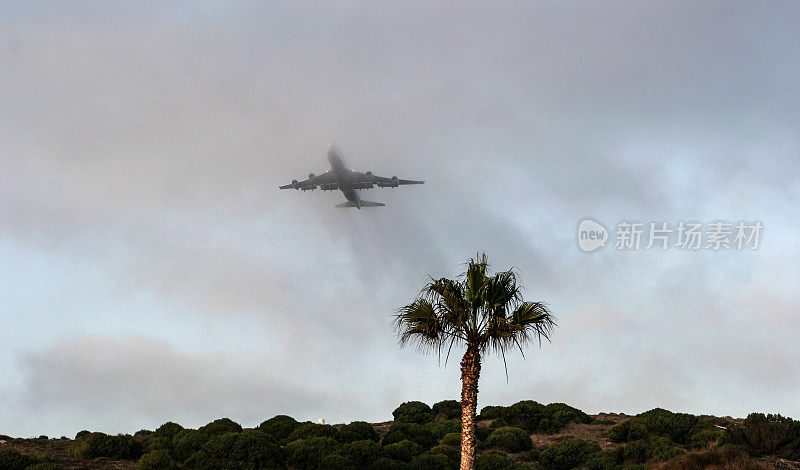
<svg viewBox="0 0 800 470">
<path fill-rule="evenodd" d="M 744 447 L 752 455 L 780 453 L 800 438 L 800 422 L 781 415 L 751 413 L 726 433 L 723 442 Z"/>
</svg>

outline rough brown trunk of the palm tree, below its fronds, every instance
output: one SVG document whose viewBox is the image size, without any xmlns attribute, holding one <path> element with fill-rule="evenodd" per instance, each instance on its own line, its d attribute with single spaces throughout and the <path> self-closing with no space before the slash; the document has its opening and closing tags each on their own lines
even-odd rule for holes
<svg viewBox="0 0 800 470">
<path fill-rule="evenodd" d="M 475 469 L 475 414 L 480 375 L 480 351 L 476 345 L 467 344 L 467 352 L 461 360 L 461 470 Z"/>
</svg>

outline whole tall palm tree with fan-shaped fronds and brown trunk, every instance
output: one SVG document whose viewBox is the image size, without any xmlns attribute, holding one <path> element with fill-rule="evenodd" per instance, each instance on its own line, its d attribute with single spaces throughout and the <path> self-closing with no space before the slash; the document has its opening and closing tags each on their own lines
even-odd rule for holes
<svg viewBox="0 0 800 470">
<path fill-rule="evenodd" d="M 461 360 L 461 470 L 475 468 L 475 414 L 481 356 L 487 351 L 503 356 L 508 349 L 542 338 L 550 339 L 556 326 L 541 302 L 522 300 L 513 270 L 488 274 L 486 255 L 467 263 L 457 279 L 433 279 L 420 296 L 395 315 L 400 345 L 414 344 L 424 352 L 436 351 L 445 363 L 454 345 L 467 348 Z M 506 369 L 506 378 L 508 369 Z"/>
</svg>

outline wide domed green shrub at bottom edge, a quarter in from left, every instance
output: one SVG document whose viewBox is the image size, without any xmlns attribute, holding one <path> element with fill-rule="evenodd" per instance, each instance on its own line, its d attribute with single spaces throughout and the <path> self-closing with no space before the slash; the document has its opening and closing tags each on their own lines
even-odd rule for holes
<svg viewBox="0 0 800 470">
<path fill-rule="evenodd" d="M 246 470 L 284 466 L 283 450 L 275 439 L 261 431 L 247 429 L 211 437 L 186 461 L 183 468 Z"/>
</svg>

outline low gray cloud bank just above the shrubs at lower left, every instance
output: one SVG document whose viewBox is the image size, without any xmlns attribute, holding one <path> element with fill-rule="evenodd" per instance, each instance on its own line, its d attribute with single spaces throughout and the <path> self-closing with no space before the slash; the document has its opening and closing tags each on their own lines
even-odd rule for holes
<svg viewBox="0 0 800 470">
<path fill-rule="evenodd" d="M 167 420 L 198 426 L 230 417 L 246 426 L 293 410 L 307 414 L 342 397 L 303 382 L 279 360 L 189 355 L 152 338 L 78 338 L 26 354 L 14 414 L 40 417 L 30 433 L 95 428 L 154 429 Z M 133 429 L 136 427 L 137 429 Z"/>
</svg>

